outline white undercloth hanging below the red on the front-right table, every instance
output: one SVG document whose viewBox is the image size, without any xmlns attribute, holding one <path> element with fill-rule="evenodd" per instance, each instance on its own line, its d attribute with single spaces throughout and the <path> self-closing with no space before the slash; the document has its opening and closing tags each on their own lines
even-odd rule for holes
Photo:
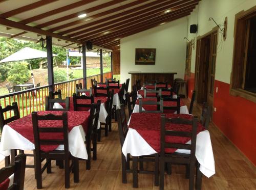
<svg viewBox="0 0 256 190">
<path fill-rule="evenodd" d="M 191 142 L 187 142 L 190 144 Z M 130 153 L 132 156 L 143 156 L 157 153 L 142 137 L 132 128 L 129 128 L 122 147 L 123 154 Z M 189 150 L 178 149 L 176 152 L 190 153 Z M 204 130 L 197 134 L 196 157 L 200 163 L 200 171 L 207 177 L 215 174 L 215 161 L 212 152 L 210 134 Z"/>
</svg>

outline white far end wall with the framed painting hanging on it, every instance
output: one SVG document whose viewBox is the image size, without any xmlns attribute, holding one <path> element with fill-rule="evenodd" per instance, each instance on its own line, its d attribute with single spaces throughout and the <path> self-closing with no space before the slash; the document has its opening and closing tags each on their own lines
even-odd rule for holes
<svg viewBox="0 0 256 190">
<path fill-rule="evenodd" d="M 121 39 L 121 83 L 131 79 L 129 71 L 177 72 L 175 78 L 184 78 L 187 18 Z M 135 48 L 156 48 L 156 65 L 135 65 Z M 131 90 L 131 86 L 130 90 Z"/>
</svg>

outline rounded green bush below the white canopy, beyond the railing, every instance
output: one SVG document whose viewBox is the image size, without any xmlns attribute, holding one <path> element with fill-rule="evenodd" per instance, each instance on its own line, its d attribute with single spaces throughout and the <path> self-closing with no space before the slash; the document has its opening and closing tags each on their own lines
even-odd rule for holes
<svg viewBox="0 0 256 190">
<path fill-rule="evenodd" d="M 14 63 L 11 65 L 8 71 L 7 80 L 17 85 L 28 82 L 30 78 L 30 72 L 27 62 Z"/>
</svg>

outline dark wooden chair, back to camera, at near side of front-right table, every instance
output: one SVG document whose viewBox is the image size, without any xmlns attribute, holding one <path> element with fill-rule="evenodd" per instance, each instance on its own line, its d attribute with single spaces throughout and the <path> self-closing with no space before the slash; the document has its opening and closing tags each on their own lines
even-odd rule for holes
<svg viewBox="0 0 256 190">
<path fill-rule="evenodd" d="M 164 166 L 165 163 L 188 165 L 189 167 L 189 189 L 194 189 L 194 170 L 196 163 L 196 142 L 197 142 L 197 117 L 193 120 L 183 118 L 168 119 L 165 115 L 161 116 L 161 151 L 160 151 L 160 189 L 164 189 Z M 165 129 L 166 124 L 191 125 L 191 131 L 178 131 Z M 167 136 L 171 137 L 189 137 L 191 144 L 168 143 L 165 141 Z M 190 154 L 184 153 L 166 153 L 166 148 L 190 150 Z"/>
</svg>

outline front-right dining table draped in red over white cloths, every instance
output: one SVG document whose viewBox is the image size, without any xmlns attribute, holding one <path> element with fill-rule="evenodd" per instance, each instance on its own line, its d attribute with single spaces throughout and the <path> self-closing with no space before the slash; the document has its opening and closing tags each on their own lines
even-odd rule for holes
<svg viewBox="0 0 256 190">
<path fill-rule="evenodd" d="M 133 113 L 131 115 L 129 129 L 122 146 L 122 153 L 125 157 L 127 154 L 143 156 L 160 153 L 161 115 L 160 113 Z M 165 117 L 193 119 L 193 116 L 188 114 L 165 114 Z M 191 131 L 191 125 L 166 124 L 166 129 Z M 184 137 L 168 137 L 166 141 L 170 143 L 191 144 L 190 138 Z M 166 152 L 189 154 L 190 150 L 168 148 Z M 215 174 L 215 161 L 210 134 L 199 122 L 197 125 L 196 158 L 200 164 L 200 172 L 206 177 Z"/>
</svg>

